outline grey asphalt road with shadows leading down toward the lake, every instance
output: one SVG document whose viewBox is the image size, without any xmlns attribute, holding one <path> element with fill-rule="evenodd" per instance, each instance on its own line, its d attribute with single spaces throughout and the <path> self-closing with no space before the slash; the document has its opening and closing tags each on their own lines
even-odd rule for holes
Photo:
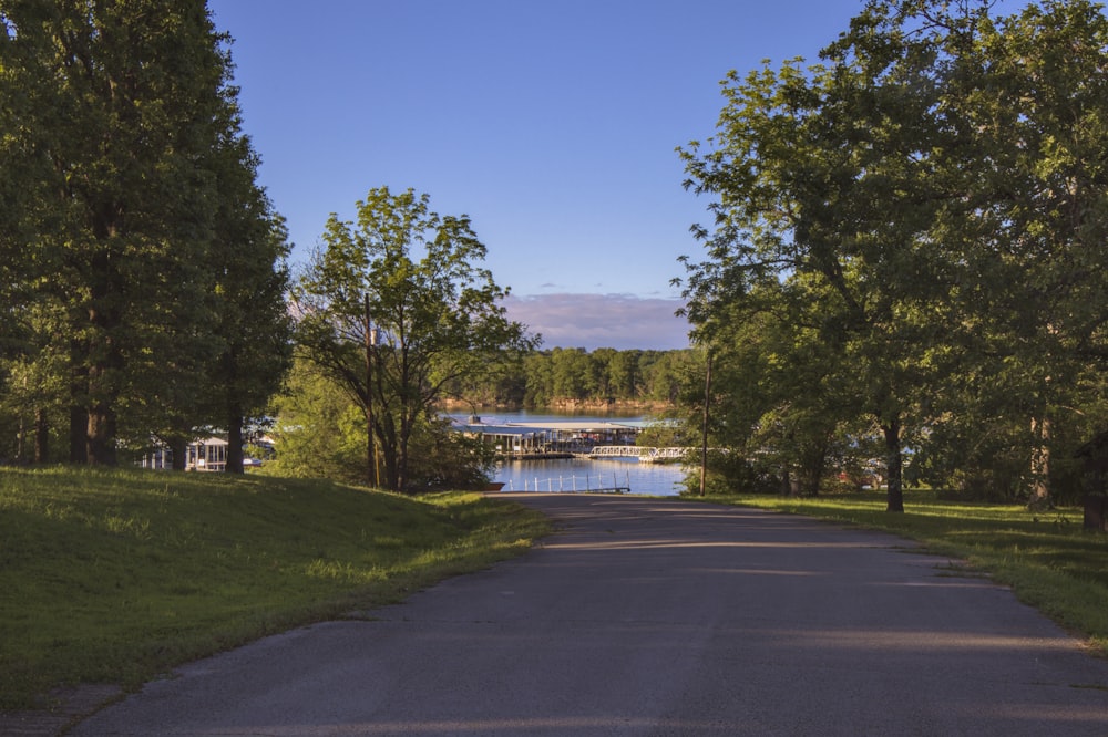
<svg viewBox="0 0 1108 737">
<path fill-rule="evenodd" d="M 181 668 L 73 735 L 1108 735 L 1108 661 L 894 537 L 505 495 L 562 531 L 376 619 Z"/>
</svg>

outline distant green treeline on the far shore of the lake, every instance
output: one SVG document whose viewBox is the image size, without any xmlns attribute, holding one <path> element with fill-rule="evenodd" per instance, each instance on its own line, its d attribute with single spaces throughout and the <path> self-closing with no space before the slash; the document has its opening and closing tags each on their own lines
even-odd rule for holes
<svg viewBox="0 0 1108 737">
<path fill-rule="evenodd" d="M 674 404 L 690 351 L 555 347 L 506 361 L 453 394 L 473 405 L 560 407 Z"/>
</svg>

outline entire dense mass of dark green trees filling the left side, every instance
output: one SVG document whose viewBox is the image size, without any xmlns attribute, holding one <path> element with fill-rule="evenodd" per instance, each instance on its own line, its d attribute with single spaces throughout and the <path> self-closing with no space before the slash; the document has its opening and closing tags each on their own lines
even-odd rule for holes
<svg viewBox="0 0 1108 737">
<path fill-rule="evenodd" d="M 226 42 L 204 0 L 0 0 L 6 458 L 112 465 L 216 426 L 240 470 L 290 326 Z"/>
</svg>

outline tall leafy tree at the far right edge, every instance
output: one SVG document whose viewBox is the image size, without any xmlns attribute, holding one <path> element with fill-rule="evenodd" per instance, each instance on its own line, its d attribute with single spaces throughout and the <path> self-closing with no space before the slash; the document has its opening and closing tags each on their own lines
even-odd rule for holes
<svg viewBox="0 0 1108 737">
<path fill-rule="evenodd" d="M 1048 1 L 974 31 L 947 101 L 966 196 L 941 221 L 963 236 L 963 307 L 991 377 L 978 396 L 1003 392 L 1032 501 L 1048 505 L 1054 450 L 1097 414 L 1089 378 L 1108 356 L 1108 19 Z"/>
</svg>

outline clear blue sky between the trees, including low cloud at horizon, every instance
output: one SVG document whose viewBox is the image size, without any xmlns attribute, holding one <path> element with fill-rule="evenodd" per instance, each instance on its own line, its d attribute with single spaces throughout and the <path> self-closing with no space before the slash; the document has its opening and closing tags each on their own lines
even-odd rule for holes
<svg viewBox="0 0 1108 737">
<path fill-rule="evenodd" d="M 861 0 L 209 0 L 244 128 L 302 262 L 373 187 L 466 214 L 544 346 L 674 349 L 708 203 L 677 146 L 719 81 L 814 61 Z"/>
</svg>

